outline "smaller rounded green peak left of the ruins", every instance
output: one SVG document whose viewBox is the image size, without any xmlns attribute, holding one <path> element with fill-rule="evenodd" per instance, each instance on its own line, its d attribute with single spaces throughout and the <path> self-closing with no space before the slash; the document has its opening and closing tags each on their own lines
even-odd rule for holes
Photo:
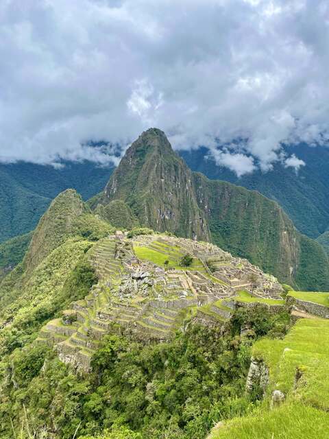
<svg viewBox="0 0 329 439">
<path fill-rule="evenodd" d="M 84 213 L 84 202 L 74 189 L 66 189 L 51 202 L 34 231 L 25 255 L 27 272 L 34 270 L 67 237 L 76 233 L 75 221 Z"/>
</svg>

